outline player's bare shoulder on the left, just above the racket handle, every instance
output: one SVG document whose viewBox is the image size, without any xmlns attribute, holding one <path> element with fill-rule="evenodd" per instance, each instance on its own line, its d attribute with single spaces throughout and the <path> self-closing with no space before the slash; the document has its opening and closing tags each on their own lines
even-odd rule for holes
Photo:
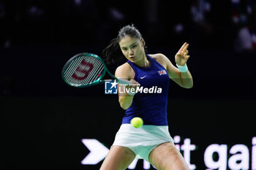
<svg viewBox="0 0 256 170">
<path fill-rule="evenodd" d="M 133 79 L 135 77 L 135 72 L 129 63 L 123 63 L 121 66 L 116 68 L 115 76 L 123 79 Z"/>
</svg>

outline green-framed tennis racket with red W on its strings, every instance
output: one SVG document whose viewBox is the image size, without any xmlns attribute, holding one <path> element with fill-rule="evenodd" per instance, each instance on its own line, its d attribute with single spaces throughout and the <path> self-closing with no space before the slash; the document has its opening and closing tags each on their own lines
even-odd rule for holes
<svg viewBox="0 0 256 170">
<path fill-rule="evenodd" d="M 92 53 L 80 53 L 70 58 L 64 65 L 61 76 L 68 85 L 77 88 L 86 88 L 91 85 L 99 85 L 106 81 L 102 80 L 105 73 L 123 85 L 130 85 L 128 80 L 118 79 L 108 71 L 102 58 Z"/>
</svg>

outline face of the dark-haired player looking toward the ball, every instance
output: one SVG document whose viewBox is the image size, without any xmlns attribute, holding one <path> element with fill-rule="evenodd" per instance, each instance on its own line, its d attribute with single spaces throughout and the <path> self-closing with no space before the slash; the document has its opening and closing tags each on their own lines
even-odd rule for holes
<svg viewBox="0 0 256 170">
<path fill-rule="evenodd" d="M 141 61 L 145 56 L 144 45 L 145 42 L 143 39 L 140 40 L 131 36 L 124 36 L 119 42 L 119 46 L 125 58 L 132 63 Z"/>
</svg>

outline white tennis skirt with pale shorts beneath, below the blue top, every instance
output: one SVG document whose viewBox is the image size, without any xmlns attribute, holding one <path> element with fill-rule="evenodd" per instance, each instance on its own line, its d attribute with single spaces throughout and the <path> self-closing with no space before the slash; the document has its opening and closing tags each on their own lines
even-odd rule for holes
<svg viewBox="0 0 256 170">
<path fill-rule="evenodd" d="M 148 161 L 148 155 L 155 147 L 165 142 L 173 142 L 167 125 L 143 125 L 134 128 L 131 124 L 122 124 L 116 133 L 113 146 L 129 147 L 136 158 Z"/>
</svg>

